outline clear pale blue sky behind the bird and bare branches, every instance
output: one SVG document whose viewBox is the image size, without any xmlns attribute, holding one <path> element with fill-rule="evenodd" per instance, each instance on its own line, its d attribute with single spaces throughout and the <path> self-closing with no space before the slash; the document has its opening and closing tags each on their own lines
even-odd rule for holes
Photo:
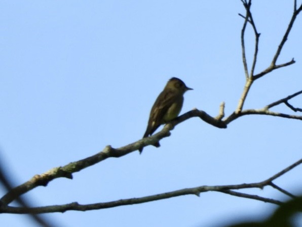
<svg viewBox="0 0 302 227">
<path fill-rule="evenodd" d="M 267 68 L 292 14 L 293 1 L 254 1 L 260 36 L 256 72 Z M 149 110 L 168 79 L 185 93 L 181 113 L 215 116 L 237 106 L 244 86 L 238 1 L 1 1 L 0 147 L 15 184 L 93 155 L 106 145 L 140 139 Z M 244 108 L 262 108 L 301 90 L 299 15 L 277 63 L 296 63 L 259 79 Z M 246 34 L 250 62 L 254 37 Z M 290 101 L 301 108 L 302 97 Z M 274 110 L 291 113 L 280 105 Z M 142 197 L 185 187 L 264 180 L 301 158 L 297 120 L 245 116 L 227 129 L 193 118 L 161 147 L 111 158 L 38 187 L 39 206 Z M 302 167 L 276 183 L 300 193 Z M 0 187 L 0 192 L 5 193 Z M 245 190 L 286 199 L 275 190 Z M 45 215 L 61 226 L 216 226 L 265 217 L 274 205 L 217 192 L 133 206 Z M 6 226 L 28 226 L 25 215 L 2 214 Z"/>
</svg>

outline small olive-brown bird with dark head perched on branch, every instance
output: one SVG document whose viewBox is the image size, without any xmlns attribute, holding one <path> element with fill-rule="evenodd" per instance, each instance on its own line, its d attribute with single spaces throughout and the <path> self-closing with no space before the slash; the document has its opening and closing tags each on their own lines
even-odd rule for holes
<svg viewBox="0 0 302 227">
<path fill-rule="evenodd" d="M 176 77 L 172 77 L 166 84 L 164 90 L 157 97 L 148 120 L 148 125 L 143 138 L 151 136 L 156 129 L 174 118 L 176 118 L 182 108 L 183 94 L 193 88 L 187 87 L 184 82 Z M 154 146 L 159 147 L 157 142 Z M 143 148 L 139 148 L 141 154 Z"/>
</svg>

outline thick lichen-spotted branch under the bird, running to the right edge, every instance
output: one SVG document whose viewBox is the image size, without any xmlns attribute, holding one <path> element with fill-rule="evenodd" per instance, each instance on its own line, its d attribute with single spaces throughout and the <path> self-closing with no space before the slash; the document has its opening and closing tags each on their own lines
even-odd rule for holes
<svg viewBox="0 0 302 227">
<path fill-rule="evenodd" d="M 249 87 L 250 86 L 247 86 L 247 89 Z M 271 116 L 279 116 L 279 117 L 302 120 L 302 116 L 276 113 L 276 112 L 272 112 L 272 111 L 268 110 L 269 108 L 276 106 L 284 101 L 287 101 L 300 93 L 302 93 L 302 91 L 289 95 L 287 98 L 277 101 L 277 102 L 270 104 L 267 107 L 259 109 L 259 110 L 251 109 L 251 110 L 244 110 L 239 113 L 233 113 L 223 121 L 221 120 L 221 118 L 224 115 L 224 113 L 223 113 L 224 112 L 224 103 L 222 103 L 220 105 L 218 116 L 215 118 L 211 117 L 204 111 L 197 110 L 197 109 L 191 110 L 191 111 L 177 117 L 175 120 L 171 121 L 170 123 L 166 124 L 165 127 L 162 129 L 162 131 L 160 131 L 159 133 L 157 133 L 153 136 L 141 139 L 137 142 L 128 144 L 124 147 L 117 148 L 117 149 L 112 148 L 111 146 L 106 146 L 103 151 L 101 151 L 93 156 L 87 157 L 87 158 L 79 160 L 79 161 L 75 161 L 75 162 L 65 165 L 63 167 L 53 168 L 41 175 L 35 175 L 29 181 L 10 190 L 0 201 L 3 204 L 9 204 L 12 201 L 14 201 L 16 198 L 21 196 L 21 194 L 24 194 L 27 191 L 29 191 L 37 186 L 46 186 L 50 181 L 52 181 L 55 178 L 65 177 L 65 178 L 72 179 L 72 173 L 81 171 L 89 166 L 92 166 L 96 163 L 99 163 L 100 161 L 105 160 L 108 157 L 121 157 L 130 152 L 133 152 L 133 151 L 139 149 L 142 146 L 152 145 L 155 142 L 160 141 L 162 138 L 170 136 L 170 131 L 177 124 L 179 124 L 182 121 L 187 120 L 191 117 L 200 117 L 205 122 L 207 122 L 213 126 L 219 127 L 219 128 L 226 128 L 226 125 L 229 124 L 231 121 L 237 119 L 240 116 L 249 115 L 249 114 L 271 115 Z M 247 94 L 247 91 L 246 91 L 246 94 Z"/>
</svg>

